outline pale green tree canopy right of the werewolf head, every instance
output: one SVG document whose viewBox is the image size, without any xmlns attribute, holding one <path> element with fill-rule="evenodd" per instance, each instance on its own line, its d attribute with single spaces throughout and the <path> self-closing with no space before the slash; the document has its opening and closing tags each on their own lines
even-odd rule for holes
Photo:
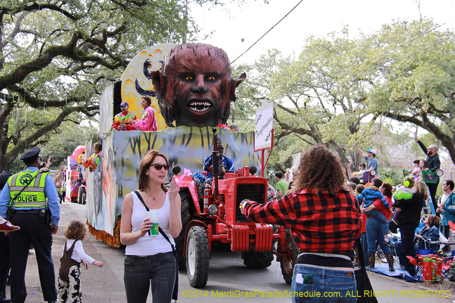
<svg viewBox="0 0 455 303">
<path fill-rule="evenodd" d="M 387 165 L 384 154 L 393 145 L 386 144 L 414 144 L 414 130 L 391 135 L 391 120 L 429 131 L 455 163 L 454 42 L 452 31 L 429 20 L 394 21 L 358 37 L 348 27 L 324 38 L 309 36 L 297 58 L 272 49 L 250 65 L 240 103 L 254 108 L 274 100 L 276 148 L 270 159 L 276 169 L 288 166 L 297 147 L 316 143 L 357 167 L 363 159 L 353 139 L 362 150 L 377 148 Z M 384 130 L 393 137 L 387 143 Z"/>
</svg>

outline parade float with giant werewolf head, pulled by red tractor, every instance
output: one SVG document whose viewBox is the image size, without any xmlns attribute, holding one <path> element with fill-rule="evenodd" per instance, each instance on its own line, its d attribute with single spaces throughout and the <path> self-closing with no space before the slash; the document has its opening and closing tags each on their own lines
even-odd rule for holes
<svg viewBox="0 0 455 303">
<path fill-rule="evenodd" d="M 200 78 L 193 70 L 201 69 L 213 72 Z M 230 243 L 233 251 L 242 251 L 248 267 L 267 267 L 273 260 L 272 254 L 277 255 L 283 276 L 290 283 L 296 257 L 290 233 L 282 227 L 256 225 L 239 213 L 242 199 L 251 198 L 259 203 L 267 199 L 264 150 L 271 148 L 273 137 L 272 104 L 262 106 L 268 117 L 259 123 L 262 125 L 259 131 L 236 132 L 223 127 L 231 113 L 231 102 L 236 98 L 235 89 L 243 79 L 245 74 L 233 78 L 227 55 L 207 44 L 159 44 L 136 55 L 121 81 L 104 90 L 100 100 L 100 133 L 85 146 L 87 157 L 94 153 L 96 142 L 103 146 L 98 167 L 85 174 L 89 232 L 112 247 L 120 246 L 123 198 L 138 188 L 143 156 L 148 150 L 157 149 L 168 157 L 171 167 L 186 171 L 178 177 L 185 179 L 180 188 L 185 202 L 181 209 L 184 228 L 175 240 L 179 265 L 188 265 L 191 269 L 191 285 L 205 285 L 210 249 L 222 243 Z M 204 86 L 204 81 L 209 84 Z M 198 94 L 206 97 L 198 98 Z M 120 103 L 128 103 L 129 111 L 140 117 L 144 95 L 152 97 L 158 130 L 113 130 L 111 124 L 114 115 L 120 112 Z M 256 124 L 260 119 L 258 116 Z M 214 131 L 217 137 L 213 136 Z M 226 174 L 224 180 L 215 176 L 216 185 L 212 182 L 207 188 L 210 190 L 205 192 L 203 189 L 201 192 L 199 186 L 198 191 L 195 178 L 189 172 L 202 171 L 206 156 L 219 157 L 213 148 L 217 142 L 223 143 L 224 155 L 232 159 L 238 172 Z M 255 151 L 261 151 L 260 161 Z M 258 176 L 251 166 L 258 167 Z M 169 170 L 166 181 L 177 172 L 178 169 Z M 238 188 L 241 188 L 239 194 Z M 198 239 L 194 238 L 194 230 L 200 235 Z M 207 254 L 202 262 L 206 268 L 198 268 L 197 264 L 202 263 L 194 261 L 202 256 L 195 248 L 195 241 L 207 243 Z M 272 251 L 275 241 L 278 241 L 278 249 Z M 193 245 L 188 246 L 189 243 Z M 189 261 L 190 256 L 193 259 Z M 195 274 L 198 277 L 195 278 Z"/>
</svg>

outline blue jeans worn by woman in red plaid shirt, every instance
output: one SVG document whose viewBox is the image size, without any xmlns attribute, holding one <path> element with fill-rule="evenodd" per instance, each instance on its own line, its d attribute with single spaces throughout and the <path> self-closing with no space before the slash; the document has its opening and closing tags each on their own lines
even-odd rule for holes
<svg viewBox="0 0 455 303">
<path fill-rule="evenodd" d="M 355 303 L 357 301 L 354 272 L 299 264 L 294 268 L 291 292 L 293 293 L 292 303 Z M 299 293 L 303 296 L 299 296 Z"/>
</svg>

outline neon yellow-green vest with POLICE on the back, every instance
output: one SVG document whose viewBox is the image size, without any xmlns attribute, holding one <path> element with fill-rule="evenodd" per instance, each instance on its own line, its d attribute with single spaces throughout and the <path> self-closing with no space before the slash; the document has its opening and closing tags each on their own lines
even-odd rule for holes
<svg viewBox="0 0 455 303">
<path fill-rule="evenodd" d="M 39 174 L 38 174 L 39 173 Z M 49 174 L 48 171 L 40 172 L 26 170 L 25 172 L 19 172 L 8 179 L 8 186 L 10 187 L 11 200 L 18 195 L 13 201 L 10 207 L 42 207 L 45 208 L 48 205 L 48 201 L 44 195 L 44 182 L 46 176 Z"/>
</svg>

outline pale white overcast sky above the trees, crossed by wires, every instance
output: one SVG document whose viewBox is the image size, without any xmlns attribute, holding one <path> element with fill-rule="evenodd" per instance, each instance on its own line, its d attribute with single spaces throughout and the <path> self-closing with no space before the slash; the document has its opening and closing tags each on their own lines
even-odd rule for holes
<svg viewBox="0 0 455 303">
<path fill-rule="evenodd" d="M 300 0 L 270 0 L 268 5 L 261 0 L 245 2 L 247 5 L 241 8 L 235 2 L 231 4 L 230 14 L 220 7 L 209 10 L 208 6 L 190 6 L 196 23 L 202 29 L 200 37 L 213 32 L 209 38 L 198 39 L 198 42 L 224 49 L 232 62 Z M 444 29 L 455 28 L 455 20 L 452 20 L 455 18 L 454 0 L 420 0 L 420 12 L 438 24 L 447 22 L 442 27 Z M 343 25 L 349 25 L 355 35 L 358 29 L 366 33 L 378 31 L 382 24 L 393 19 L 411 21 L 419 18 L 416 0 L 303 0 L 235 64 L 253 63 L 270 48 L 277 48 L 286 55 L 292 52 L 297 55 L 306 36 L 324 36 L 328 32 L 339 31 Z"/>
</svg>

